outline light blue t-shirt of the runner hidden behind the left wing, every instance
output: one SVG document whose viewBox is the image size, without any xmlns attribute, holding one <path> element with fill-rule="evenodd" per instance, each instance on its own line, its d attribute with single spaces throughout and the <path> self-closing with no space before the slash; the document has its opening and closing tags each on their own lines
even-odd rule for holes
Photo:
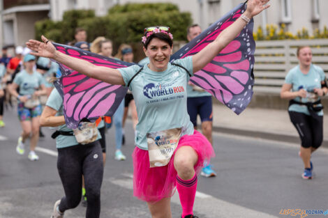
<svg viewBox="0 0 328 218">
<path fill-rule="evenodd" d="M 56 116 L 62 116 L 64 114 L 63 112 L 63 98 L 61 98 L 61 95 L 59 95 L 56 88 L 52 90 L 52 92 L 49 95 L 49 98 L 47 99 L 47 103 L 45 104 L 48 107 L 51 107 L 52 109 L 58 111 Z M 66 124 L 60 125 L 58 127 L 59 131 L 64 132 L 72 132 L 72 129 L 69 129 Z M 101 139 L 100 133 L 98 133 L 98 139 Z M 66 148 L 70 146 L 77 146 L 79 143 L 76 141 L 74 136 L 64 136 L 59 135 L 56 138 L 56 148 Z"/>
</svg>

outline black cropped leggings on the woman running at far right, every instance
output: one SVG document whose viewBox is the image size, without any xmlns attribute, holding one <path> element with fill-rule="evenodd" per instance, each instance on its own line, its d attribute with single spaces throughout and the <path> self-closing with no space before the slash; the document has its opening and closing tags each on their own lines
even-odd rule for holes
<svg viewBox="0 0 328 218">
<path fill-rule="evenodd" d="M 319 148 L 323 140 L 323 116 L 308 116 L 289 111 L 290 120 L 299 132 L 303 148 Z"/>
</svg>

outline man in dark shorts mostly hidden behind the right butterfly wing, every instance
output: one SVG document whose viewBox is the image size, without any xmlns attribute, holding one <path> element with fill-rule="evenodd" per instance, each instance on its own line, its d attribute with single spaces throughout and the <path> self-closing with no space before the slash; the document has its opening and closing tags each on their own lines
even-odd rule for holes
<svg viewBox="0 0 328 218">
<path fill-rule="evenodd" d="M 190 42 L 198 35 L 202 33 L 202 29 L 198 24 L 193 24 L 187 29 L 187 39 Z M 187 109 L 188 114 L 191 118 L 191 123 L 193 127 L 197 130 L 197 115 L 200 116 L 202 122 L 202 134 L 209 140 L 213 146 L 212 140 L 212 120 L 213 120 L 213 111 L 212 111 L 212 96 L 204 89 L 195 86 L 191 81 L 188 81 L 187 86 Z M 204 177 L 216 176 L 216 172 L 212 169 L 209 162 L 204 162 L 204 167 L 200 175 Z"/>
</svg>

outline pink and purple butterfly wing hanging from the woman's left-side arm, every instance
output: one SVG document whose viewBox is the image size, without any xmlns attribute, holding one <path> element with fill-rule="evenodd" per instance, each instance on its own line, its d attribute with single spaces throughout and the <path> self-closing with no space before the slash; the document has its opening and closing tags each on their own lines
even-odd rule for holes
<svg viewBox="0 0 328 218">
<path fill-rule="evenodd" d="M 53 43 L 59 52 L 108 68 L 125 68 L 135 63 L 110 59 L 76 47 Z M 128 88 L 107 84 L 59 63 L 61 77 L 54 86 L 63 97 L 66 125 L 75 129 L 81 120 L 95 122 L 99 116 L 112 116 Z"/>
</svg>

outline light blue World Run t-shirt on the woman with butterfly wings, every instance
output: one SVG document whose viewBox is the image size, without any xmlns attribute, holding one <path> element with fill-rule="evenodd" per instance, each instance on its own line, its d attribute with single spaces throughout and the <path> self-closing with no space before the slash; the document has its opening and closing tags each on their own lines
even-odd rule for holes
<svg viewBox="0 0 328 218">
<path fill-rule="evenodd" d="M 191 56 L 174 61 L 193 74 Z M 119 68 L 126 86 L 140 66 Z M 187 112 L 186 86 L 189 75 L 183 68 L 168 63 L 163 72 L 154 72 L 144 65 L 143 70 L 131 81 L 137 107 L 138 123 L 135 144 L 147 150 L 147 133 L 181 127 L 184 134 L 193 134 L 193 124 Z"/>
</svg>

